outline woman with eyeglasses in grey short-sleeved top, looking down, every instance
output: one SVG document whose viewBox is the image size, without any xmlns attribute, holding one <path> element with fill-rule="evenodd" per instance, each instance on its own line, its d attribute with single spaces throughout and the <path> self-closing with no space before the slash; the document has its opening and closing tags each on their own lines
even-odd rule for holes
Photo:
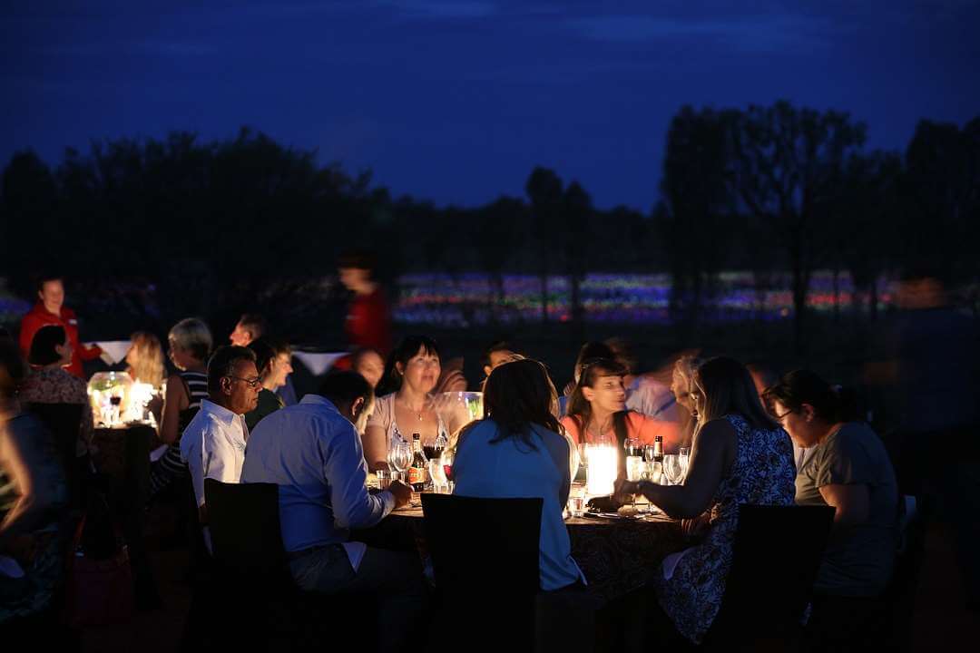
<svg viewBox="0 0 980 653">
<path fill-rule="evenodd" d="M 877 596 L 898 549 L 899 491 L 881 439 L 816 374 L 796 370 L 765 392 L 773 416 L 798 446 L 815 447 L 796 479 L 796 502 L 836 509 L 814 589 Z"/>
</svg>

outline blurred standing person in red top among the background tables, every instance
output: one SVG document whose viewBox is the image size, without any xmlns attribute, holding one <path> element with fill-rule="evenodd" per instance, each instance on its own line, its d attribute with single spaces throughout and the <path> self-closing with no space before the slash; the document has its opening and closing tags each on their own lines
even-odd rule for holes
<svg viewBox="0 0 980 653">
<path fill-rule="evenodd" d="M 391 309 L 380 284 L 374 281 L 375 257 L 350 251 L 337 261 L 340 283 L 354 293 L 344 331 L 352 348 L 371 348 L 381 355 L 391 351 Z"/>
</svg>

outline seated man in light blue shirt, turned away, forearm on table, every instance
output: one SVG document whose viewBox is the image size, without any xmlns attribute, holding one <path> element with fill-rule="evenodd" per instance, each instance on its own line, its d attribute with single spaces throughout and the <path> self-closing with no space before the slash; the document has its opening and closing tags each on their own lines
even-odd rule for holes
<svg viewBox="0 0 980 653">
<path fill-rule="evenodd" d="M 377 494 L 365 486 L 368 466 L 354 422 L 371 396 L 360 374 L 328 374 L 318 395 L 259 423 L 242 482 L 279 486 L 282 543 L 295 582 L 324 594 L 376 594 L 379 649 L 396 650 L 410 642 L 424 608 L 418 556 L 348 541 L 350 529 L 374 526 L 412 495 L 398 482 Z"/>
</svg>

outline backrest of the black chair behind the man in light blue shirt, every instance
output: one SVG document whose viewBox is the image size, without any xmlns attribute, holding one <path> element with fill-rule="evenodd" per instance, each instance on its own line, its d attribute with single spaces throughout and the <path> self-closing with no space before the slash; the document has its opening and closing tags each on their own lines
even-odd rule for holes
<svg viewBox="0 0 980 653">
<path fill-rule="evenodd" d="M 222 574 L 242 583 L 278 583 L 286 574 L 279 488 L 204 480 L 212 553 Z"/>
</svg>

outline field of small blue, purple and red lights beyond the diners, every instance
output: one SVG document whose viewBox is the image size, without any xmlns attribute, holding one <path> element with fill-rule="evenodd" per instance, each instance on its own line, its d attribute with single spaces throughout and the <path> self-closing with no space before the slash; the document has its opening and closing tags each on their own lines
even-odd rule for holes
<svg viewBox="0 0 980 653">
<path fill-rule="evenodd" d="M 499 282 L 483 273 L 406 274 L 398 279 L 399 303 L 395 319 L 409 324 L 466 327 L 487 323 L 515 324 L 541 319 L 541 281 L 534 275 L 505 274 Z M 587 322 L 669 322 L 670 275 L 588 274 L 579 288 Z M 878 306 L 892 303 L 892 283 L 878 281 Z M 571 319 L 571 283 L 568 277 L 550 276 L 547 283 L 548 317 Z M 836 300 L 835 300 L 836 297 Z M 679 298 L 680 303 L 691 298 Z M 866 293 L 855 293 L 851 277 L 829 271 L 815 272 L 808 303 L 817 311 L 866 308 Z M 857 302 L 857 306 L 856 306 Z M 702 301 L 702 316 L 711 321 L 778 320 L 793 314 L 789 275 L 757 289 L 750 272 L 724 272 L 711 295 Z"/>
</svg>

